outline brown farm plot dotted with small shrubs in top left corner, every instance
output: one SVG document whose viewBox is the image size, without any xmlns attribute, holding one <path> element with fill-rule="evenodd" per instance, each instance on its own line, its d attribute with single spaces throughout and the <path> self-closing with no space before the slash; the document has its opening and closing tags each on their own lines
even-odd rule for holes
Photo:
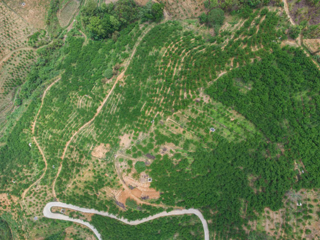
<svg viewBox="0 0 320 240">
<path fill-rule="evenodd" d="M 0 60 L 10 51 L 27 46 L 27 37 L 34 32 L 31 24 L 0 2 Z"/>
</svg>

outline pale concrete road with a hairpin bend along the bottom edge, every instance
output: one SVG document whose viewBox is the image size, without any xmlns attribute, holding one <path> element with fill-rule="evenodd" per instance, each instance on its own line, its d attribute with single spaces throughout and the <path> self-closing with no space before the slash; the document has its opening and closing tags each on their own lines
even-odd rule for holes
<svg viewBox="0 0 320 240">
<path fill-rule="evenodd" d="M 73 210 L 76 210 L 76 211 L 82 211 L 82 212 L 99 214 L 99 215 L 102 215 L 102 216 L 108 216 L 108 217 L 117 219 L 117 220 L 122 221 L 122 222 L 124 222 L 126 224 L 129 224 L 129 225 L 137 225 L 137 224 L 140 224 L 140 223 L 143 223 L 143 222 L 146 222 L 146 221 L 149 221 L 149 220 L 153 220 L 155 218 L 162 217 L 162 216 L 194 214 L 197 217 L 199 217 L 201 222 L 202 222 L 203 229 L 204 229 L 204 240 L 209 240 L 209 229 L 208 229 L 208 225 L 206 223 L 206 220 L 204 219 L 202 213 L 199 210 L 194 209 L 194 208 L 183 209 L 183 210 L 173 210 L 173 211 L 169 211 L 169 212 L 162 211 L 162 212 L 157 213 L 157 214 L 155 214 L 153 216 L 148 216 L 148 217 L 142 218 L 141 220 L 129 221 L 128 219 L 125 219 L 125 218 L 122 218 L 122 217 L 119 218 L 119 217 L 117 217 L 117 216 L 115 216 L 113 214 L 110 214 L 110 213 L 106 212 L 106 211 L 98 211 L 98 210 L 95 210 L 95 209 L 83 208 L 83 207 L 79 207 L 79 206 L 75 206 L 75 205 L 72 205 L 72 204 L 67 204 L 67 203 L 63 203 L 63 202 L 59 202 L 59 201 L 51 201 L 51 202 L 46 203 L 46 205 L 44 206 L 43 215 L 45 217 L 53 218 L 53 219 L 59 219 L 59 220 L 73 221 L 73 222 L 77 222 L 77 223 L 80 223 L 82 225 L 85 225 L 85 226 L 87 226 L 88 228 L 90 228 L 94 232 L 94 234 L 96 235 L 96 237 L 99 240 L 102 240 L 101 235 L 92 224 L 90 224 L 87 221 L 83 221 L 81 219 L 71 218 L 71 217 L 69 217 L 67 215 L 64 215 L 64 214 L 52 213 L 51 212 L 51 207 L 53 207 L 53 206 L 65 207 L 65 208 L 70 208 L 70 209 L 73 209 Z"/>
</svg>

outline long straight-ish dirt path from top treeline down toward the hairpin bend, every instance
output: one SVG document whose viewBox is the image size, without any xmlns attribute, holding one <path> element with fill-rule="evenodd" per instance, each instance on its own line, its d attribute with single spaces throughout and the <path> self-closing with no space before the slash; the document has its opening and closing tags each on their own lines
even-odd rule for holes
<svg viewBox="0 0 320 240">
<path fill-rule="evenodd" d="M 137 46 L 140 44 L 140 41 L 141 41 L 142 38 L 145 36 L 145 34 L 152 28 L 152 26 L 153 26 L 153 24 L 152 24 L 152 25 L 149 25 L 149 27 L 138 37 L 136 43 L 134 44 L 134 46 L 133 46 L 133 48 L 132 48 L 132 53 L 131 53 L 128 61 L 126 62 L 123 71 L 117 76 L 117 78 L 116 78 L 115 82 L 113 83 L 113 86 L 112 86 L 112 88 L 110 89 L 109 93 L 106 95 L 106 97 L 104 97 L 103 101 L 101 102 L 101 104 L 99 105 L 99 107 L 96 109 L 96 113 L 94 114 L 94 116 L 93 116 L 89 121 L 87 121 L 86 123 L 84 123 L 77 131 L 75 131 L 75 132 L 73 133 L 73 135 L 70 137 L 70 139 L 66 142 L 66 144 L 65 144 L 65 146 L 64 146 L 64 148 L 63 148 L 62 156 L 61 156 L 61 163 L 60 163 L 60 165 L 59 165 L 58 171 L 57 171 L 57 173 L 56 173 L 56 175 L 55 175 L 55 178 L 54 178 L 53 184 L 52 184 L 52 194 L 53 194 L 53 196 L 54 196 L 55 198 L 57 198 L 57 197 L 56 197 L 55 190 L 54 190 L 55 181 L 56 181 L 57 177 L 59 176 L 60 171 L 61 171 L 61 169 L 62 169 L 62 161 L 63 161 L 63 158 L 64 158 L 64 156 L 65 156 L 65 152 L 66 152 L 66 150 L 67 150 L 70 142 L 72 141 L 73 137 L 74 137 L 79 131 L 81 131 L 84 127 L 88 126 L 88 125 L 94 120 L 94 118 L 99 114 L 99 112 L 101 111 L 103 105 L 105 104 L 105 102 L 107 101 L 107 99 L 108 99 L 109 96 L 111 95 L 114 87 L 116 86 L 116 83 L 117 83 L 120 79 L 123 78 L 124 72 L 126 71 L 126 69 L 127 69 L 128 65 L 129 65 L 130 61 L 132 60 L 132 57 L 133 57 L 133 55 L 134 55 L 134 53 L 135 53 L 135 51 L 136 51 Z"/>
</svg>

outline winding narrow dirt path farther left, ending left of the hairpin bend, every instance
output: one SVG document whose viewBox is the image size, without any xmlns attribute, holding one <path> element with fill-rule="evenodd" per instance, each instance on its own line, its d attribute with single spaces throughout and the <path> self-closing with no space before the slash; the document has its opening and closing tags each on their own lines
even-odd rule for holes
<svg viewBox="0 0 320 240">
<path fill-rule="evenodd" d="M 44 90 L 44 92 L 43 92 L 43 94 L 42 94 L 42 98 L 41 98 L 41 105 L 40 105 L 39 110 L 38 110 L 38 112 L 36 113 L 35 118 L 34 118 L 34 121 L 33 121 L 33 123 L 32 123 L 33 141 L 35 142 L 37 148 L 39 149 L 39 151 L 40 151 L 40 153 L 41 153 L 41 155 L 42 155 L 42 159 L 43 159 L 43 161 L 44 161 L 45 166 L 44 166 L 44 170 L 43 170 L 43 173 L 41 174 L 41 176 L 40 176 L 37 180 L 35 180 L 28 188 L 26 188 L 26 189 L 23 191 L 22 195 L 21 195 L 22 201 L 23 201 L 23 203 L 24 203 L 24 205 L 26 206 L 27 209 L 28 209 L 28 207 L 27 207 L 27 205 L 26 205 L 26 203 L 25 203 L 25 201 L 24 201 L 24 197 L 25 197 L 26 193 L 30 190 L 30 188 L 31 188 L 32 186 L 34 186 L 34 184 L 36 184 L 37 182 L 39 182 L 39 181 L 42 179 L 42 177 L 44 176 L 44 174 L 45 174 L 45 172 L 46 172 L 46 168 L 47 168 L 47 163 L 46 163 L 46 159 L 45 159 L 44 153 L 43 153 L 43 151 L 42 151 L 39 143 L 36 141 L 35 136 L 34 136 L 34 127 L 35 127 L 35 123 L 36 123 L 36 118 L 38 117 L 38 115 L 39 115 L 39 113 L 40 113 L 40 110 L 41 110 L 41 108 L 42 108 L 43 100 L 44 100 L 44 97 L 45 97 L 45 94 L 46 94 L 47 90 L 49 90 L 50 87 L 51 87 L 55 82 L 57 82 L 58 80 L 60 80 L 60 77 L 58 77 L 58 78 L 57 78 L 56 80 L 54 80 L 50 85 L 48 85 L 47 88 L 45 88 L 45 90 Z"/>
</svg>

